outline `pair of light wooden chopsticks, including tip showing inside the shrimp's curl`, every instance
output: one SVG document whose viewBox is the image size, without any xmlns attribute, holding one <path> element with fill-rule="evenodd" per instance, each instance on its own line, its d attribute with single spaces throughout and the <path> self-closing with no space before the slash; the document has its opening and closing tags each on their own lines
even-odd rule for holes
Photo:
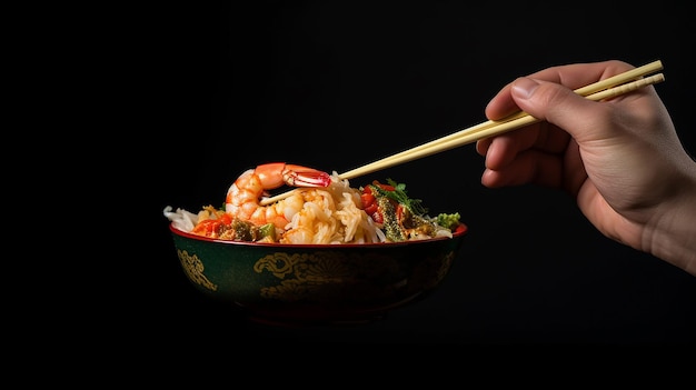
<svg viewBox="0 0 696 390">
<path fill-rule="evenodd" d="M 594 101 L 614 98 L 635 91 L 639 88 L 665 81 L 665 76 L 663 73 L 647 77 L 647 74 L 662 69 L 662 61 L 654 61 L 643 67 L 635 68 L 624 73 L 619 73 L 608 79 L 576 89 L 574 92 Z M 400 163 L 414 161 L 427 156 L 473 143 L 484 138 L 498 136 L 539 121 L 540 119 L 536 119 L 524 111 L 519 111 L 508 116 L 507 118 L 495 121 L 489 120 L 402 152 L 386 157 L 381 160 L 370 162 L 366 166 L 340 173 L 338 177 L 340 179 L 354 179 Z M 297 190 L 280 193 L 271 198 L 265 198 L 261 200 L 261 204 L 265 206 L 274 203 L 280 199 L 287 198 L 295 191 Z"/>
</svg>

